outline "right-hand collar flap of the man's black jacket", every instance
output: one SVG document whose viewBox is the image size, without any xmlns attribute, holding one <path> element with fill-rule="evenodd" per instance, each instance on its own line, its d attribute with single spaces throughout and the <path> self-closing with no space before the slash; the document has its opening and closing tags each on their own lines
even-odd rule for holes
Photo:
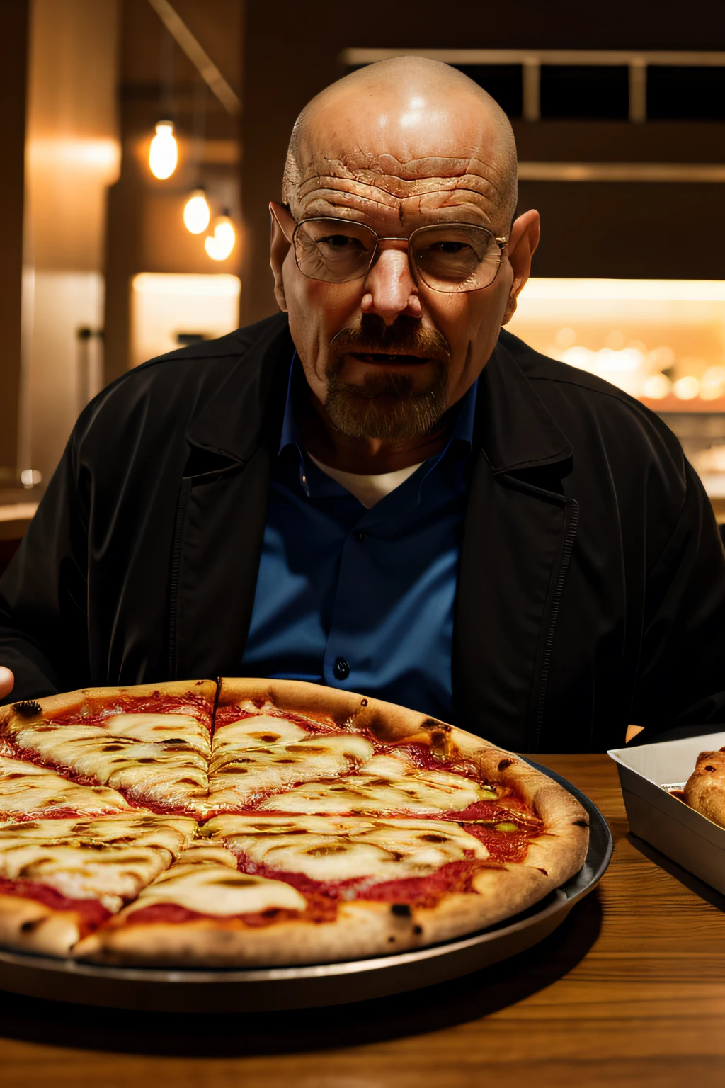
<svg viewBox="0 0 725 1088">
<path fill-rule="evenodd" d="M 539 399 L 501 332 L 478 379 L 476 441 L 495 473 L 553 465 L 573 457 L 572 446 Z"/>
</svg>

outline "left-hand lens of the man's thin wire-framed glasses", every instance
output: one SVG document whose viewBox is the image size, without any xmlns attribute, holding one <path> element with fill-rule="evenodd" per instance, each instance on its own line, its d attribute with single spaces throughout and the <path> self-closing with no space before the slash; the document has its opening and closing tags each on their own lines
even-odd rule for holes
<svg viewBox="0 0 725 1088">
<path fill-rule="evenodd" d="M 365 275 L 377 236 L 361 223 L 309 219 L 295 232 L 295 255 L 302 275 L 326 283 L 346 283 Z"/>
</svg>

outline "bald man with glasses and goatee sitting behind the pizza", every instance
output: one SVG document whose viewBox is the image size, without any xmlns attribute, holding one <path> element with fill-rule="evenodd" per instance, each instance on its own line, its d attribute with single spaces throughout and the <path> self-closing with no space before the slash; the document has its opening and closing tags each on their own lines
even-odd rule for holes
<svg viewBox="0 0 725 1088">
<path fill-rule="evenodd" d="M 0 583 L 4 697 L 291 677 L 529 752 L 724 722 L 725 554 L 677 441 L 502 329 L 539 223 L 492 99 L 363 69 L 282 196 L 283 312 L 78 420 Z"/>
</svg>

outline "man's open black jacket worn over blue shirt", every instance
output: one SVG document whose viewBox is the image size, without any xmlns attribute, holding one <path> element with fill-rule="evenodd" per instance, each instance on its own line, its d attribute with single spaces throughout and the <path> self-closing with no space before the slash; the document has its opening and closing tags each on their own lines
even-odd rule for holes
<svg viewBox="0 0 725 1088">
<path fill-rule="evenodd" d="M 0 582 L 10 697 L 239 673 L 291 354 L 275 317 L 85 409 Z M 725 722 L 725 553 L 657 416 L 502 332 L 473 456 L 455 724 L 551 752 Z"/>
</svg>

